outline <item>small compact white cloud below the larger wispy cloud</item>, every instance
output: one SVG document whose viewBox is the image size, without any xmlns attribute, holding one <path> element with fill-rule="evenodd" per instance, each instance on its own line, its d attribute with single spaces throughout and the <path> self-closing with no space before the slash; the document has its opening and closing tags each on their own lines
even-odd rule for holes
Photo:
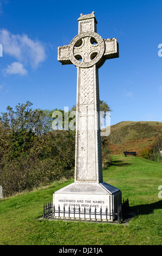
<svg viewBox="0 0 162 256">
<path fill-rule="evenodd" d="M 27 70 L 24 68 L 23 64 L 20 62 L 13 62 L 11 65 L 7 65 L 6 69 L 2 70 L 4 75 L 27 75 Z"/>
</svg>

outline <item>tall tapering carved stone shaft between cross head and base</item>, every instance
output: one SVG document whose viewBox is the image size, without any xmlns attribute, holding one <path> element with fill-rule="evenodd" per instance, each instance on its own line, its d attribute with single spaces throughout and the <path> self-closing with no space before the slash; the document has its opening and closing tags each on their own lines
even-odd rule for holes
<svg viewBox="0 0 162 256">
<path fill-rule="evenodd" d="M 77 68 L 75 182 L 102 182 L 98 69 Z"/>
</svg>

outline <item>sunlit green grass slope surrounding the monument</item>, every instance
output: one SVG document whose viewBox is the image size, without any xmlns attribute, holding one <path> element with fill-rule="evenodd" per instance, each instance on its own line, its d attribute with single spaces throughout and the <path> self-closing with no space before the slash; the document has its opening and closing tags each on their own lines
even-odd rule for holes
<svg viewBox="0 0 162 256">
<path fill-rule="evenodd" d="M 131 210 L 139 209 L 128 225 L 39 220 L 43 203 L 73 180 L 0 201 L 0 245 L 161 245 L 158 187 L 162 164 L 140 157 L 113 156 L 104 182 L 121 189 Z"/>
</svg>

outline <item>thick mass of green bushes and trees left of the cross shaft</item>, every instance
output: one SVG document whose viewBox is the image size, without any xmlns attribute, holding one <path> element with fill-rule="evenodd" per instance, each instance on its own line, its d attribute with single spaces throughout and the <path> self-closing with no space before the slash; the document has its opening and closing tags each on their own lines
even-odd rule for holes
<svg viewBox="0 0 162 256">
<path fill-rule="evenodd" d="M 4 196 L 74 175 L 75 132 L 51 131 L 48 112 L 27 102 L 0 117 L 0 184 Z"/>
</svg>

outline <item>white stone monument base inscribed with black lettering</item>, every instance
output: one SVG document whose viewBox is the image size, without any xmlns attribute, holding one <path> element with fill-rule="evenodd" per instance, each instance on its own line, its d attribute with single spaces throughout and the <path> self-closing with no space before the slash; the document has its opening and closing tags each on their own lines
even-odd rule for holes
<svg viewBox="0 0 162 256">
<path fill-rule="evenodd" d="M 121 204 L 121 191 L 105 182 L 72 183 L 53 194 L 53 217 L 114 221 Z"/>
</svg>

